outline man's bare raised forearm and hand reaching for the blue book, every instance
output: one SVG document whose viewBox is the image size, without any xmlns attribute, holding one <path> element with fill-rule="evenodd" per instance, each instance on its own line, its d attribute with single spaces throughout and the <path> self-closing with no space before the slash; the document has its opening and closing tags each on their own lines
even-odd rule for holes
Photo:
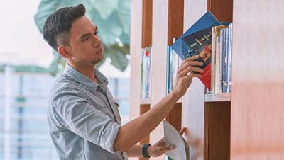
<svg viewBox="0 0 284 160">
<path fill-rule="evenodd" d="M 178 99 L 187 91 L 192 78 L 200 77 L 200 74 L 195 74 L 194 72 L 203 72 L 199 67 L 195 67 L 202 66 L 202 62 L 195 61 L 197 58 L 198 55 L 185 59 L 184 62 L 182 62 L 182 65 L 178 69 L 173 91 L 162 98 L 151 110 L 148 110 L 143 115 L 120 127 L 119 133 L 114 141 L 114 150 L 128 151 L 143 137 L 152 132 L 163 118 L 170 113 L 170 110 L 173 109 Z"/>
</svg>

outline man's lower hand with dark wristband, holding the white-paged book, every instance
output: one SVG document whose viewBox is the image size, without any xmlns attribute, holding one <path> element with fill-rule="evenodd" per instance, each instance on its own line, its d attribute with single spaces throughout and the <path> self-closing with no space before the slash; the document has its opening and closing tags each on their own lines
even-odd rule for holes
<svg viewBox="0 0 284 160">
<path fill-rule="evenodd" d="M 183 133 L 186 131 L 186 128 L 182 128 L 180 130 L 180 135 L 183 135 Z M 157 157 L 162 154 L 165 154 L 166 151 L 170 151 L 175 149 L 175 145 L 165 146 L 165 138 L 160 139 L 158 142 L 153 144 L 152 146 L 149 146 L 147 149 L 147 153 L 149 156 Z"/>
</svg>

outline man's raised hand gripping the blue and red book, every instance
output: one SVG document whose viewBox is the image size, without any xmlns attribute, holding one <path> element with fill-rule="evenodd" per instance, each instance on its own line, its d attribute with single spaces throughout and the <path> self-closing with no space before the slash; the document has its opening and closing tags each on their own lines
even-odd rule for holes
<svg viewBox="0 0 284 160">
<path fill-rule="evenodd" d="M 187 88 L 191 84 L 193 77 L 201 77 L 201 75 L 198 73 L 203 72 L 203 70 L 199 67 L 202 66 L 203 63 L 196 61 L 196 59 L 198 58 L 198 55 L 187 58 L 182 62 L 182 65 L 178 68 L 173 92 L 176 93 L 179 97 L 185 94 Z"/>
</svg>

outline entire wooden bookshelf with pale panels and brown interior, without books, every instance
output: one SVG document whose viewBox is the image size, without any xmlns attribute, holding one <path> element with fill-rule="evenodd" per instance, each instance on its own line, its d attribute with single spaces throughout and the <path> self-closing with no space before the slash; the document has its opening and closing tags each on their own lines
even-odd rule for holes
<svg viewBox="0 0 284 160">
<path fill-rule="evenodd" d="M 284 98 L 281 96 L 284 88 L 281 54 L 284 10 L 281 6 L 284 2 L 151 1 L 153 88 L 147 101 L 139 98 L 137 86 L 140 68 L 136 53 L 140 53 L 143 39 L 143 2 L 131 1 L 131 118 L 140 115 L 144 106 L 150 109 L 165 96 L 167 45 L 205 11 L 211 11 L 219 21 L 231 21 L 234 25 L 232 91 L 205 94 L 204 85 L 199 79 L 193 79 L 182 101 L 166 120 L 177 129 L 188 128 L 185 138 L 190 144 L 190 159 L 284 159 Z M 175 28 L 182 31 L 177 29 L 175 33 Z M 163 137 L 163 128 L 159 125 L 147 140 L 152 143 L 160 137 Z"/>
</svg>

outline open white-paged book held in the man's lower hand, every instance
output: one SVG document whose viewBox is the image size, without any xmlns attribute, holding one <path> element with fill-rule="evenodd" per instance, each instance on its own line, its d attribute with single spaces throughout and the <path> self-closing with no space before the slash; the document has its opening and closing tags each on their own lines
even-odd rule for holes
<svg viewBox="0 0 284 160">
<path fill-rule="evenodd" d="M 187 142 L 183 139 L 182 135 L 178 132 L 178 130 L 170 125 L 169 122 L 163 121 L 164 126 L 164 137 L 165 137 L 165 145 L 175 145 L 175 149 L 166 151 L 165 155 L 169 156 L 171 159 L 190 159 L 190 150 Z"/>
</svg>

